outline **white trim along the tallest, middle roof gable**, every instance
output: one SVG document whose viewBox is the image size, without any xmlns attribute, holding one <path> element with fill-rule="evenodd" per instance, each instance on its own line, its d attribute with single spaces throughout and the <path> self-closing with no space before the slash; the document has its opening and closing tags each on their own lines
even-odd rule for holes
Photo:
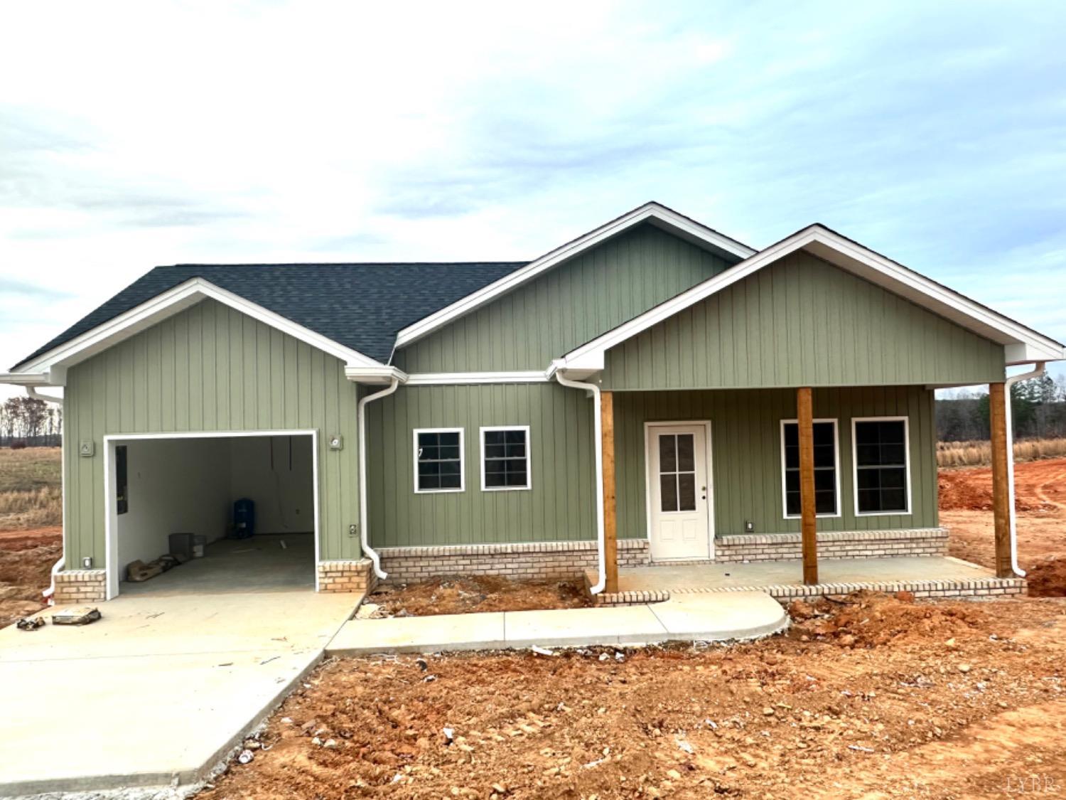
<svg viewBox="0 0 1066 800">
<path fill-rule="evenodd" d="M 616 220 L 612 220 L 605 225 L 601 225 L 595 230 L 591 230 L 584 236 L 580 236 L 574 241 L 567 242 L 550 253 L 546 253 L 536 260 L 515 270 L 510 275 L 505 275 L 499 281 L 496 281 L 495 283 L 491 283 L 471 294 L 467 294 L 465 298 L 452 303 L 450 306 L 446 306 L 439 311 L 431 314 L 429 317 L 408 325 L 397 334 L 395 347 L 401 348 L 406 345 L 410 345 L 413 341 L 417 341 L 423 336 L 436 331 L 438 327 L 448 324 L 453 319 L 462 317 L 464 314 L 469 314 L 478 306 L 484 305 L 500 294 L 521 286 L 527 281 L 536 277 L 546 270 L 550 270 L 558 263 L 565 261 L 568 258 L 574 258 L 589 247 L 596 246 L 605 239 L 610 239 L 612 236 L 616 236 L 627 228 L 639 225 L 645 221 L 660 223 L 661 225 L 665 225 L 667 228 L 673 228 L 685 235 L 690 239 L 712 245 L 727 253 L 732 253 L 740 258 L 748 258 L 756 252 L 740 242 L 736 242 L 732 239 L 723 236 L 716 230 L 712 230 L 709 227 L 700 225 L 694 220 L 682 217 L 677 211 L 666 208 L 665 206 L 661 206 L 658 203 L 645 203 L 643 206 L 633 209 L 629 213 L 624 214 Z"/>
</svg>

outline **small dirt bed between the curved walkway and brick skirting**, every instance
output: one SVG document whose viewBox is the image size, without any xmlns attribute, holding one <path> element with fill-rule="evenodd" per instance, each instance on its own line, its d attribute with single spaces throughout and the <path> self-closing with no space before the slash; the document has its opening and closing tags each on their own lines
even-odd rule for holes
<svg viewBox="0 0 1066 800">
<path fill-rule="evenodd" d="M 577 580 L 508 580 L 491 575 L 434 578 L 410 586 L 377 587 L 366 604 L 375 615 L 423 617 L 470 611 L 527 611 L 589 605 Z"/>
</svg>

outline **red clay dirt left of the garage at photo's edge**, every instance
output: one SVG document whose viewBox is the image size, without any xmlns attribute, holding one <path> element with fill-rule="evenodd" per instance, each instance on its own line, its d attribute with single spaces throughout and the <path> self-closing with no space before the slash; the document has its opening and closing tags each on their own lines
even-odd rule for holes
<svg viewBox="0 0 1066 800">
<path fill-rule="evenodd" d="M 0 628 L 45 607 L 62 539 L 62 528 L 0 531 Z"/>
</svg>

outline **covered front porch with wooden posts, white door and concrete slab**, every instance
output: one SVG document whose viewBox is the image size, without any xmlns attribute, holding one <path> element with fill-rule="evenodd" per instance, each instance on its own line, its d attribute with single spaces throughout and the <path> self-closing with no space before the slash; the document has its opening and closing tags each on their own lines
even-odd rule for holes
<svg viewBox="0 0 1066 800">
<path fill-rule="evenodd" d="M 946 557 L 932 387 L 602 389 L 603 571 L 589 587 L 604 603 L 739 589 L 1022 593 L 1005 393 L 989 388 L 996 570 Z M 642 539 L 650 565 L 619 564 L 618 543 Z"/>
</svg>

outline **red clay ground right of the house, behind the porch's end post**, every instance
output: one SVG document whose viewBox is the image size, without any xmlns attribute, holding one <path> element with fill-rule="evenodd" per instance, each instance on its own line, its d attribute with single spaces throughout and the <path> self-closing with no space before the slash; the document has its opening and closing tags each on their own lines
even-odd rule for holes
<svg viewBox="0 0 1066 800">
<path fill-rule="evenodd" d="M 1066 459 L 1015 465 L 1018 562 L 1034 596 L 1066 595 Z M 940 470 L 940 524 L 951 555 L 992 566 L 992 478 L 988 467 Z"/>
</svg>

